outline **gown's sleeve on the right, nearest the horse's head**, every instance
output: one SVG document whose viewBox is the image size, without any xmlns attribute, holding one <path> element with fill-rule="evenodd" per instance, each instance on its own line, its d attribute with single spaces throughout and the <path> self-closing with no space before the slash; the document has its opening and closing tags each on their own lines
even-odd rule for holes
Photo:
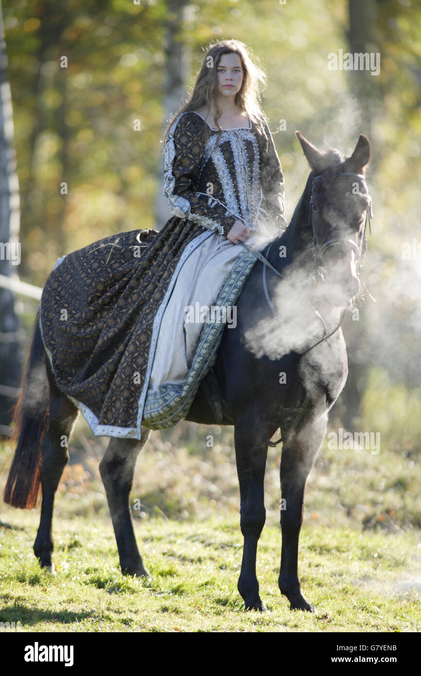
<svg viewBox="0 0 421 676">
<path fill-rule="evenodd" d="M 276 152 L 274 140 L 266 122 L 264 128 L 268 139 L 263 136 L 259 143 L 260 185 L 264 193 L 264 211 L 276 228 L 286 228 L 285 188 L 282 166 Z"/>
</svg>

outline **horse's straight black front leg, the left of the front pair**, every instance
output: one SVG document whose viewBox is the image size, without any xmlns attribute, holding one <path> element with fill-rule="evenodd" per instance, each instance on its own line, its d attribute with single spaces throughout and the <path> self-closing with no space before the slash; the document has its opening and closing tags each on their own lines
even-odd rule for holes
<svg viewBox="0 0 421 676">
<path fill-rule="evenodd" d="M 253 434 L 250 430 L 253 429 Z M 236 421 L 234 440 L 240 483 L 240 525 L 244 537 L 243 561 L 237 588 L 246 610 L 267 610 L 259 597 L 256 577 L 257 542 L 266 519 L 264 474 L 270 434 L 256 433 L 250 418 Z"/>
</svg>

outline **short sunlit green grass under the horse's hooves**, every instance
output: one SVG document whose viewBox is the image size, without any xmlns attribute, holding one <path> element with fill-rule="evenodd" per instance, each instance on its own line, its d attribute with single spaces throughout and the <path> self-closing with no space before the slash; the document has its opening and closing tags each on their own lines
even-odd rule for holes
<svg viewBox="0 0 421 676">
<path fill-rule="evenodd" d="M 237 592 L 238 518 L 135 523 L 151 578 L 124 577 L 111 523 L 61 518 L 56 575 L 39 569 L 36 510 L 2 512 L 0 621 L 21 631 L 408 631 L 421 628 L 420 537 L 303 527 L 300 573 L 316 614 L 291 612 L 277 585 L 280 532 L 266 525 L 257 574 L 269 614 L 245 612 Z M 74 543 L 77 541 L 78 546 Z"/>
</svg>

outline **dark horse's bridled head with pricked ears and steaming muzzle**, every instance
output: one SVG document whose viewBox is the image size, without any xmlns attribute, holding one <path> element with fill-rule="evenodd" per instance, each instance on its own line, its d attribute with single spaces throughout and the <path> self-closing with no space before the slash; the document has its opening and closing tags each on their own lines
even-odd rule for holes
<svg viewBox="0 0 421 676">
<path fill-rule="evenodd" d="M 295 133 L 313 172 L 309 228 L 316 267 L 324 279 L 322 295 L 333 305 L 348 306 L 360 291 L 366 219 L 372 215 L 364 180 L 370 142 L 360 135 L 351 157 L 345 158 L 337 150 L 322 152 Z"/>
</svg>

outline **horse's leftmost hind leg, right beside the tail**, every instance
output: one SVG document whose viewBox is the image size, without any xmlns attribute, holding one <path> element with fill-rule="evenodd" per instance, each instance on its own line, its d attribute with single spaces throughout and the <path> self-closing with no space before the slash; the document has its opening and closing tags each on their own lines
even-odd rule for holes
<svg viewBox="0 0 421 676">
<path fill-rule="evenodd" d="M 43 460 L 41 462 L 41 487 L 43 489 L 43 501 L 41 503 L 41 520 L 38 533 L 34 542 L 34 554 L 39 559 L 41 568 L 47 568 L 51 572 L 54 566 L 51 562 L 53 553 L 53 508 L 54 496 L 64 467 L 68 463 L 68 441 L 78 409 L 66 395 L 59 391 L 55 384 L 49 360 L 45 360 L 49 377 L 49 429 L 43 442 Z"/>
</svg>

